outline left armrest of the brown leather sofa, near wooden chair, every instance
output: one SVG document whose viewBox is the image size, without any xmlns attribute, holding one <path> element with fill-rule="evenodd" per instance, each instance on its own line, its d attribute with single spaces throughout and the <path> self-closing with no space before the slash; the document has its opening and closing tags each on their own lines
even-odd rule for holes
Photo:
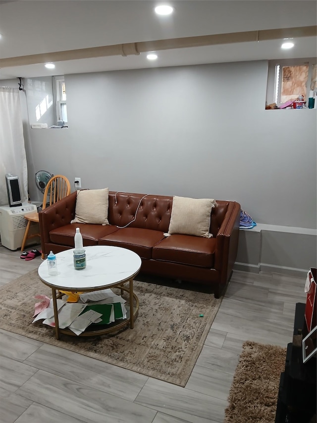
<svg viewBox="0 0 317 423">
<path fill-rule="evenodd" d="M 68 225 L 74 219 L 76 197 L 77 192 L 72 192 L 39 212 L 41 246 L 44 254 L 47 254 L 45 243 L 50 242 L 50 231 Z"/>
</svg>

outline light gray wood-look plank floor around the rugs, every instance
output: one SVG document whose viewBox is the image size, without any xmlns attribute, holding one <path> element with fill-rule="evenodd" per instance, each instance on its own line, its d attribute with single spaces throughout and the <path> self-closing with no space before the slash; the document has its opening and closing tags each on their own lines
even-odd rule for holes
<svg viewBox="0 0 317 423">
<path fill-rule="evenodd" d="M 0 284 L 40 263 L 0 246 Z M 304 279 L 234 271 L 185 388 L 0 330 L 0 422 L 223 422 L 243 342 L 286 347 L 304 286 Z"/>
</svg>

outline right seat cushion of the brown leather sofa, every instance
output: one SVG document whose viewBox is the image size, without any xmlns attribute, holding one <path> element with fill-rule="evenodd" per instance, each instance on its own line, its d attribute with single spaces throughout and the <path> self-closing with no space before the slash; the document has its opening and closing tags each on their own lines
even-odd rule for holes
<svg viewBox="0 0 317 423">
<path fill-rule="evenodd" d="M 174 234 L 153 247 L 152 258 L 212 268 L 215 247 L 215 238 Z"/>
</svg>

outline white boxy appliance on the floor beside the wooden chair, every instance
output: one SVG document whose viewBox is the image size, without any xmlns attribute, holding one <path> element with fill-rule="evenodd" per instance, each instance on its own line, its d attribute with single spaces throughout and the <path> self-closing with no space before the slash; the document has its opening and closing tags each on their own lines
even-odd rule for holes
<svg viewBox="0 0 317 423">
<path fill-rule="evenodd" d="M 22 203 L 18 207 L 0 206 L 0 236 L 1 243 L 10 250 L 16 250 L 21 247 L 25 228 L 28 221 L 24 215 L 30 212 L 36 212 L 35 204 Z M 29 235 L 38 234 L 39 225 L 31 222 Z M 34 237 L 27 241 L 26 245 L 40 243 L 40 238 Z"/>
</svg>

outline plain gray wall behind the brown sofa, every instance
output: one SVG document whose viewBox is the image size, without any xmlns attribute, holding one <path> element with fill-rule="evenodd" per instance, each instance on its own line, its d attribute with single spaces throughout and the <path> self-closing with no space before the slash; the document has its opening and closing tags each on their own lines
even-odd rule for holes
<svg viewBox="0 0 317 423">
<path fill-rule="evenodd" d="M 236 200 L 257 223 L 316 228 L 316 110 L 264 110 L 266 61 L 65 81 L 69 128 L 31 129 L 35 170 L 87 188 Z"/>
</svg>

